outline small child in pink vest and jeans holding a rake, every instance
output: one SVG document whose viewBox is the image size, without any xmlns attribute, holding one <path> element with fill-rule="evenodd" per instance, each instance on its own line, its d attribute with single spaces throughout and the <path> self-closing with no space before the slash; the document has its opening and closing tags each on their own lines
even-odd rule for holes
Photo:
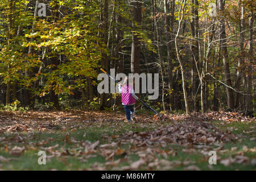
<svg viewBox="0 0 256 182">
<path fill-rule="evenodd" d="M 122 105 L 125 107 L 127 122 L 136 121 L 134 105 L 138 97 L 135 95 L 133 85 L 129 85 L 129 77 L 125 78 L 123 84 L 119 84 L 119 93 L 122 93 Z"/>
</svg>

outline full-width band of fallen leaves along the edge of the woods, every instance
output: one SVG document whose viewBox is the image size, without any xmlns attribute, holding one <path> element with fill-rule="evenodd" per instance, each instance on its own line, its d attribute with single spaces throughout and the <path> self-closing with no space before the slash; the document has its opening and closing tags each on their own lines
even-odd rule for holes
<svg viewBox="0 0 256 182">
<path fill-rule="evenodd" d="M 72 126 L 79 128 L 82 126 L 88 127 L 93 123 L 122 123 L 126 121 L 125 113 L 111 113 L 98 111 L 27 111 L 25 113 L 4 112 L 0 114 L 0 133 L 16 133 L 30 131 L 52 131 L 63 129 L 63 127 Z M 159 121 L 172 123 L 177 121 L 197 122 L 197 121 L 221 121 L 221 122 L 253 122 L 255 118 L 244 117 L 240 113 L 225 113 L 223 111 L 211 111 L 208 113 L 191 113 L 191 114 L 164 114 L 163 118 L 157 119 L 150 115 L 137 115 L 139 123 L 154 123 L 158 125 Z"/>
</svg>

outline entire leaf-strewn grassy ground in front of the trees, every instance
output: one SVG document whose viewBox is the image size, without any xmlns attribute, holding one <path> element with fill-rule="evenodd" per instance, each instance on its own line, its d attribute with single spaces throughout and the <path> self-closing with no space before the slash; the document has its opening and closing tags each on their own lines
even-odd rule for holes
<svg viewBox="0 0 256 182">
<path fill-rule="evenodd" d="M 255 118 L 96 111 L 0 113 L 3 170 L 255 170 Z M 46 165 L 39 165 L 39 151 Z M 210 165 L 210 151 L 217 164 Z"/>
</svg>

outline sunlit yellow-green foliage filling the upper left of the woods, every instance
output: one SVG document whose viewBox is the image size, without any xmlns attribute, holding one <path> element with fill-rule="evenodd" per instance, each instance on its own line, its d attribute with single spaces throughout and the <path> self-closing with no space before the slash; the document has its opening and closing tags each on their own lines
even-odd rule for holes
<svg viewBox="0 0 256 182">
<path fill-rule="evenodd" d="M 61 5 L 72 11 L 59 20 L 53 20 L 51 16 L 34 19 L 34 13 L 26 11 L 27 1 L 15 3 L 15 10 L 11 9 L 9 1 L 3 1 L 0 5 L 0 9 L 3 9 L 3 16 L 0 17 L 1 84 L 18 82 L 19 86 L 25 86 L 39 96 L 46 96 L 49 90 L 70 95 L 79 83 L 85 82 L 86 77 L 97 76 L 95 68 L 101 59 L 101 52 L 107 50 L 98 37 L 96 2 L 85 6 L 84 1 L 52 1 L 49 3 L 52 9 Z M 34 7 L 30 9 L 34 10 Z M 14 26 L 9 31 L 10 19 L 7 15 L 10 13 L 14 16 Z M 18 27 L 19 34 L 16 32 Z M 30 54 L 28 49 L 31 49 Z M 43 56 L 38 52 L 44 51 L 46 53 L 42 60 Z M 55 57 L 62 57 L 60 64 L 46 64 L 46 59 Z M 35 73 L 40 66 L 43 66 L 42 71 Z M 40 78 L 45 80 L 43 88 L 32 89 L 35 80 Z M 81 89 L 81 84 L 79 86 Z"/>
</svg>

